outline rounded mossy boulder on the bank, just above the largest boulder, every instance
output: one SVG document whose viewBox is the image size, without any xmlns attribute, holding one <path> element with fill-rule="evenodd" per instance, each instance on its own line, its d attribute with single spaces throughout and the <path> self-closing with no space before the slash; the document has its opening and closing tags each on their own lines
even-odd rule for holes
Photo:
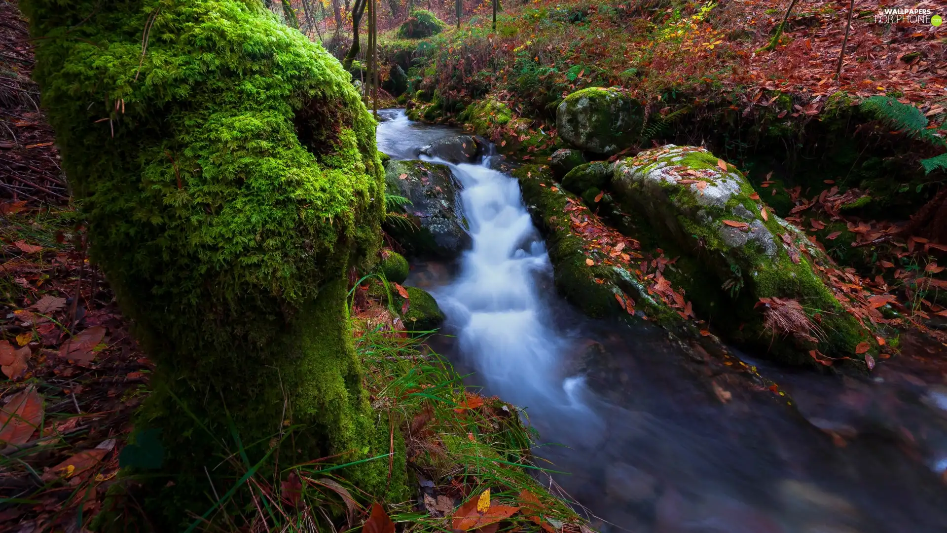
<svg viewBox="0 0 947 533">
<path fill-rule="evenodd" d="M 640 102 L 616 88 L 587 87 L 556 109 L 556 128 L 569 145 L 586 152 L 612 155 L 628 146 L 641 131 Z"/>
</svg>

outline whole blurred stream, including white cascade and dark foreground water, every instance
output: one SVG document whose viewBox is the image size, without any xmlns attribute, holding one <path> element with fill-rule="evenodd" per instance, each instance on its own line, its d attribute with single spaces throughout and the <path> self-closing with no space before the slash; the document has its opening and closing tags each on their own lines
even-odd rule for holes
<svg viewBox="0 0 947 533">
<path fill-rule="evenodd" d="M 460 133 L 380 114 L 379 149 L 394 158 Z M 798 411 L 764 394 L 724 404 L 661 330 L 586 319 L 556 295 L 519 186 L 491 156 L 434 160 L 463 186 L 473 245 L 456 263 L 413 264 L 408 285 L 435 296 L 453 336 L 432 342 L 485 394 L 526 408 L 545 443 L 536 454 L 568 472 L 553 478 L 600 531 L 947 531 L 947 389 L 755 362 Z M 882 430 L 861 431 L 872 421 Z M 914 450 L 884 430 L 899 425 Z"/>
</svg>

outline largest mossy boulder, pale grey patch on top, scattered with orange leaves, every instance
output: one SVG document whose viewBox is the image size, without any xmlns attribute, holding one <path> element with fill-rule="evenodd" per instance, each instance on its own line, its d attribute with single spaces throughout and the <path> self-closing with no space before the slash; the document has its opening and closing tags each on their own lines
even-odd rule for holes
<svg viewBox="0 0 947 533">
<path fill-rule="evenodd" d="M 702 148 L 667 145 L 617 161 L 610 189 L 625 211 L 647 217 L 727 288 L 732 323 L 718 325 L 733 340 L 789 362 L 812 362 L 813 349 L 861 361 L 861 342 L 876 350 L 872 331 L 823 281 L 821 269 L 831 266 L 824 252 L 776 215 L 762 216 L 759 195 L 732 165 Z M 804 306 L 811 339 L 764 328 L 757 309 L 771 298 Z"/>
</svg>

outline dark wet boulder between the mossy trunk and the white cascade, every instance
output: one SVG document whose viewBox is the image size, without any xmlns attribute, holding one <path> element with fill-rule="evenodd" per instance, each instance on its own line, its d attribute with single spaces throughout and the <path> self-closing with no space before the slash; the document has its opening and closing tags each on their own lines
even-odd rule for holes
<svg viewBox="0 0 947 533">
<path fill-rule="evenodd" d="M 458 194 L 460 182 L 447 165 L 392 159 L 385 167 L 384 181 L 388 193 L 408 199 L 398 207 L 406 219 L 386 224 L 385 230 L 410 255 L 454 259 L 470 247 Z"/>
</svg>

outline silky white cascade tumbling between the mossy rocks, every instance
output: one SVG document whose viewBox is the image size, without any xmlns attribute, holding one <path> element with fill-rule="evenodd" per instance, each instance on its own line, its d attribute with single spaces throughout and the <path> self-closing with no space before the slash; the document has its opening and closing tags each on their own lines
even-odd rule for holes
<svg viewBox="0 0 947 533">
<path fill-rule="evenodd" d="M 473 247 L 464 252 L 451 285 L 435 290 L 456 331 L 459 351 L 491 392 L 557 416 L 594 414 L 582 403 L 581 378 L 563 378 L 570 341 L 553 325 L 536 278 L 551 275 L 545 243 L 533 226 L 519 184 L 481 164 L 451 164 Z"/>
</svg>

